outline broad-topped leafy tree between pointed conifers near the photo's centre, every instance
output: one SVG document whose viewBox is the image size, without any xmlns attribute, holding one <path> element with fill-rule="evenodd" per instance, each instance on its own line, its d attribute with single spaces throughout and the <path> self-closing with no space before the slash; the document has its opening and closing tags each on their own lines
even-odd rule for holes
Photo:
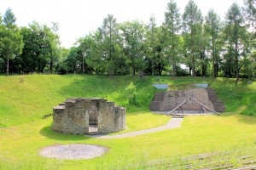
<svg viewBox="0 0 256 170">
<path fill-rule="evenodd" d="M 128 57 L 131 73 L 143 70 L 143 42 L 145 37 L 145 26 L 138 20 L 126 21 L 120 26 L 123 36 L 123 48 Z"/>
</svg>

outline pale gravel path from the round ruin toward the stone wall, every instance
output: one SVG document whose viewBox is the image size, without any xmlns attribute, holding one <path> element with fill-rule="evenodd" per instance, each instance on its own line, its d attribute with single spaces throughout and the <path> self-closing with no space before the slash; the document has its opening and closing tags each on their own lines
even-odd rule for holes
<svg viewBox="0 0 256 170">
<path fill-rule="evenodd" d="M 160 132 L 167 129 L 179 128 L 183 122 L 183 117 L 172 117 L 172 119 L 165 125 L 161 127 L 154 127 L 149 128 L 141 131 L 131 132 L 131 133 L 122 133 L 122 134 L 115 134 L 115 135 L 87 135 L 91 138 L 97 139 L 120 139 L 120 138 L 127 138 L 132 136 L 137 136 L 146 133 L 155 133 Z"/>
</svg>

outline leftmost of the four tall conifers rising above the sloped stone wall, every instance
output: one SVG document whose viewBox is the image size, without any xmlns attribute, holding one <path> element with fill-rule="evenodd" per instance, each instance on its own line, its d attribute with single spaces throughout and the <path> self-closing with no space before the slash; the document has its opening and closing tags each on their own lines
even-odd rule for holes
<svg viewBox="0 0 256 170">
<path fill-rule="evenodd" d="M 165 12 L 164 28 L 166 31 L 165 52 L 172 63 L 172 77 L 176 75 L 177 59 L 179 53 L 179 31 L 181 28 L 181 18 L 177 3 L 171 0 L 167 3 L 167 11 Z M 169 40 L 169 41 L 168 41 Z"/>
</svg>

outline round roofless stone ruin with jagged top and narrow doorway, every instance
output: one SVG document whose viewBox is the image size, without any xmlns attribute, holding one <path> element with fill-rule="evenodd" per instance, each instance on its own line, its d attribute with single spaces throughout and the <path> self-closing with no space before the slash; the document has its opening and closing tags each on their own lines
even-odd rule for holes
<svg viewBox="0 0 256 170">
<path fill-rule="evenodd" d="M 53 109 L 52 129 L 60 133 L 113 133 L 125 129 L 124 107 L 101 98 L 73 98 Z"/>
</svg>

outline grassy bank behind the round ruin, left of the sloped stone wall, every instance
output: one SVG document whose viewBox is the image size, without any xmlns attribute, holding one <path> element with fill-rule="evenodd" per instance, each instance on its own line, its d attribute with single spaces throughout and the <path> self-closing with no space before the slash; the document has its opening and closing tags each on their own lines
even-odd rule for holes
<svg viewBox="0 0 256 170">
<path fill-rule="evenodd" d="M 0 77 L 0 127 L 32 122 L 52 113 L 55 105 L 70 97 L 102 97 L 128 106 L 125 88 L 137 86 L 137 105 L 128 111 L 148 111 L 155 89 L 137 77 L 45 76 Z"/>
</svg>

